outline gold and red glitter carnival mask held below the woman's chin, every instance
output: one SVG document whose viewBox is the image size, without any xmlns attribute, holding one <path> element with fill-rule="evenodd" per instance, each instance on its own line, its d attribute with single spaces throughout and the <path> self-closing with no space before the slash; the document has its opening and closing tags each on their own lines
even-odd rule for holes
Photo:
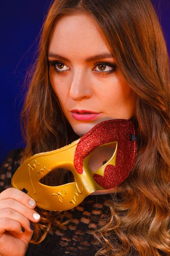
<svg viewBox="0 0 170 256">
<path fill-rule="evenodd" d="M 110 160 L 93 172 L 88 165 L 97 148 L 114 144 Z M 51 211 L 71 209 L 96 190 L 111 189 L 130 174 L 136 159 L 136 133 L 133 123 L 112 119 L 95 125 L 87 134 L 62 148 L 35 154 L 14 173 L 11 184 L 33 198 L 37 206 Z M 54 169 L 70 170 L 74 182 L 46 186 L 40 179 Z"/>
</svg>

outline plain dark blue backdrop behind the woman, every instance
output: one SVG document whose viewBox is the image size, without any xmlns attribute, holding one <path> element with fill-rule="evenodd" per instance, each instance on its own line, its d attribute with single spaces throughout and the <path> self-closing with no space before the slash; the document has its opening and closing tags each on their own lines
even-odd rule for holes
<svg viewBox="0 0 170 256">
<path fill-rule="evenodd" d="M 9 150 L 21 148 L 21 87 L 35 39 L 51 0 L 0 0 L 0 166 Z M 170 52 L 169 0 L 154 0 Z M 29 49 L 31 47 L 31 49 Z M 28 50 L 29 49 L 29 50 Z"/>
</svg>

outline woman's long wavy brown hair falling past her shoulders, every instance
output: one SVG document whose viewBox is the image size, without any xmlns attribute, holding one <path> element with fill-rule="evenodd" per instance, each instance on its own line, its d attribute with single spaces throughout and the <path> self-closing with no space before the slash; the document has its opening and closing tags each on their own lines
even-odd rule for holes
<svg viewBox="0 0 170 256">
<path fill-rule="evenodd" d="M 130 176 L 119 185 L 121 200 L 106 201 L 110 217 L 101 219 L 95 254 L 170 255 L 170 70 L 161 26 L 150 0 L 54 0 L 40 32 L 37 60 L 26 78 L 28 93 L 21 113 L 26 139 L 23 160 L 77 139 L 62 113 L 48 77 L 48 42 L 63 15 L 88 12 L 94 17 L 125 80 L 136 93 L 139 151 Z M 62 182 L 58 170 L 45 177 Z M 49 178 L 49 180 L 48 180 Z M 32 243 L 40 243 L 51 224 L 62 227 L 62 214 L 37 208 L 42 216 Z M 40 230 L 44 234 L 40 236 Z M 113 239 L 114 238 L 114 239 Z M 116 239 L 115 239 L 116 238 Z"/>
</svg>

